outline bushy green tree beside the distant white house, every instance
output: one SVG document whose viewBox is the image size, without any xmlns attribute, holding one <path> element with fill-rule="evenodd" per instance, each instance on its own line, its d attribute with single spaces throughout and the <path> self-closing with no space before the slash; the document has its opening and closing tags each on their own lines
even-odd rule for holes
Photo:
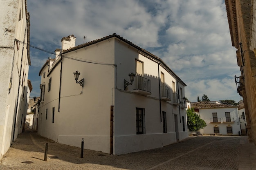
<svg viewBox="0 0 256 170">
<path fill-rule="evenodd" d="M 186 116 L 188 120 L 188 130 L 198 131 L 207 126 L 205 121 L 200 118 L 200 115 L 195 113 L 193 108 L 186 110 Z"/>
</svg>

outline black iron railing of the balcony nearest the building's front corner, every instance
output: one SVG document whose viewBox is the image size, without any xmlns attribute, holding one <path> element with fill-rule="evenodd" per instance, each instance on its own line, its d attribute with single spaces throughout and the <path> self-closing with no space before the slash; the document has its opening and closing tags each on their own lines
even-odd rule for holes
<svg viewBox="0 0 256 170">
<path fill-rule="evenodd" d="M 134 90 L 142 90 L 142 91 L 147 91 L 147 92 L 151 93 L 151 80 L 150 79 L 136 75 L 134 77 L 134 82 L 135 82 Z"/>
</svg>

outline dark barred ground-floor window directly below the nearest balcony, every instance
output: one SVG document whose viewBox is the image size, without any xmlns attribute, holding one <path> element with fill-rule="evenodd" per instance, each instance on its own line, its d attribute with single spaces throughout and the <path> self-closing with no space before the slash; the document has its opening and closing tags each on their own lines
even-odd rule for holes
<svg viewBox="0 0 256 170">
<path fill-rule="evenodd" d="M 145 109 L 136 108 L 136 129 L 138 134 L 145 134 Z"/>
</svg>

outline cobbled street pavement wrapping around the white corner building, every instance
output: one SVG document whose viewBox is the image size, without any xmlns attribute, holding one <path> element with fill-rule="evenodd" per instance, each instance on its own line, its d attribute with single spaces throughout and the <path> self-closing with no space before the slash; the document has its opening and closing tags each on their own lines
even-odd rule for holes
<svg viewBox="0 0 256 170">
<path fill-rule="evenodd" d="M 48 157 L 44 161 L 45 143 Z M 256 170 L 256 148 L 246 136 L 189 137 L 176 144 L 109 155 L 58 144 L 34 130 L 18 136 L 0 170 Z"/>
</svg>

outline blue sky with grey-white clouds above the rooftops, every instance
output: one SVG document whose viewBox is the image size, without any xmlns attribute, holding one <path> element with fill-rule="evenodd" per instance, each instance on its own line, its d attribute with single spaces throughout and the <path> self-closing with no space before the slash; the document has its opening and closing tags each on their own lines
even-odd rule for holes
<svg viewBox="0 0 256 170">
<path fill-rule="evenodd" d="M 224 0 L 27 0 L 30 44 L 54 52 L 61 38 L 76 45 L 117 33 L 160 57 L 186 84 L 191 102 L 242 99 Z M 40 96 L 38 73 L 54 55 L 31 48 L 31 97 Z"/>
</svg>

